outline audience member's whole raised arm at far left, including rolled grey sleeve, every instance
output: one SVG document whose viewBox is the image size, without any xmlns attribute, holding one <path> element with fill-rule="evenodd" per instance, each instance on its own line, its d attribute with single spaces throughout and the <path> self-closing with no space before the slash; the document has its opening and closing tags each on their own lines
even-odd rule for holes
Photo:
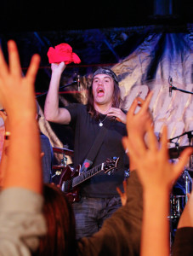
<svg viewBox="0 0 193 256">
<path fill-rule="evenodd" d="M 34 93 L 40 58 L 31 58 L 26 77 L 22 77 L 14 41 L 8 42 L 8 50 L 9 66 L 0 49 L 0 102 L 9 121 L 9 148 L 3 152 L 7 160 L 1 161 L 0 255 L 27 256 L 37 249 L 39 236 L 46 232 Z"/>
</svg>

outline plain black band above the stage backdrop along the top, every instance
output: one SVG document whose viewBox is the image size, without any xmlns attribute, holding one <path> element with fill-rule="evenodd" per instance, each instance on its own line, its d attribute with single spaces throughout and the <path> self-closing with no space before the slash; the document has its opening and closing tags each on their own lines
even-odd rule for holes
<svg viewBox="0 0 193 256">
<path fill-rule="evenodd" d="M 0 7 L 1 32 L 88 29 L 192 22 L 191 0 L 8 1 Z"/>
</svg>

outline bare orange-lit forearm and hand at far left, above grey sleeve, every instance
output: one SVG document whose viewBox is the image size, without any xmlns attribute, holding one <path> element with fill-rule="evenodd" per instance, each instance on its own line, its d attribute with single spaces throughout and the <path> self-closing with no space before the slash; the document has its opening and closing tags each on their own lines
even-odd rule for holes
<svg viewBox="0 0 193 256">
<path fill-rule="evenodd" d="M 39 131 L 37 129 L 34 82 L 40 57 L 34 55 L 26 77 L 13 41 L 8 43 L 9 67 L 0 50 L 0 102 L 9 119 L 9 148 L 3 189 L 21 187 L 42 191 Z"/>
</svg>

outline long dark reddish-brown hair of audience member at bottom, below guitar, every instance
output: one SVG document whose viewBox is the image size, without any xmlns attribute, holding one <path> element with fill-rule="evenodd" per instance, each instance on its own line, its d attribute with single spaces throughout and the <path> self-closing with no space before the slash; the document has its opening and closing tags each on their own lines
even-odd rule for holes
<svg viewBox="0 0 193 256">
<path fill-rule="evenodd" d="M 33 256 L 77 255 L 74 212 L 64 193 L 52 184 L 43 186 L 44 207 L 48 232 L 40 239 Z"/>
</svg>

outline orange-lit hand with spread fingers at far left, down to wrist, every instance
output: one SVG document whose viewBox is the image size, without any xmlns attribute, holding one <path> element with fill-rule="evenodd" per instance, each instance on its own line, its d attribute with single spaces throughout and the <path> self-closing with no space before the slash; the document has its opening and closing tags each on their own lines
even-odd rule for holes
<svg viewBox="0 0 193 256">
<path fill-rule="evenodd" d="M 20 57 L 14 41 L 8 42 L 8 49 L 9 66 L 4 60 L 2 49 L 0 49 L 0 102 L 8 113 L 10 121 L 20 115 L 33 114 L 35 116 L 37 110 L 34 101 L 34 83 L 40 57 L 39 55 L 32 56 L 26 77 L 23 77 Z"/>
</svg>

